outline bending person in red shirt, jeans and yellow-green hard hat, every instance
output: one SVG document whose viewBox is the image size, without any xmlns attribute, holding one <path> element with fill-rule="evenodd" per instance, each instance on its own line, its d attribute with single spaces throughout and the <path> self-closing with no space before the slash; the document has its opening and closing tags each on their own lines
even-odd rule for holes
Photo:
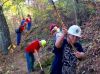
<svg viewBox="0 0 100 74">
<path fill-rule="evenodd" d="M 34 40 L 28 46 L 25 48 L 25 54 L 26 54 L 26 61 L 27 61 L 27 69 L 28 73 L 30 74 L 32 71 L 34 71 L 34 53 L 37 51 L 39 52 L 41 47 L 46 46 L 45 40 Z"/>
</svg>

